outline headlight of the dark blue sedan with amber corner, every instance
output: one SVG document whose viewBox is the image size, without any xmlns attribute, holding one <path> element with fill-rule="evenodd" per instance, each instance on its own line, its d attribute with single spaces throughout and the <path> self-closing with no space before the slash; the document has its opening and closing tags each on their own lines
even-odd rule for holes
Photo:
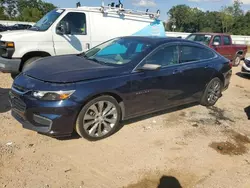
<svg viewBox="0 0 250 188">
<path fill-rule="evenodd" d="M 32 96 L 41 100 L 60 101 L 68 99 L 75 90 L 70 91 L 34 91 Z"/>
</svg>

